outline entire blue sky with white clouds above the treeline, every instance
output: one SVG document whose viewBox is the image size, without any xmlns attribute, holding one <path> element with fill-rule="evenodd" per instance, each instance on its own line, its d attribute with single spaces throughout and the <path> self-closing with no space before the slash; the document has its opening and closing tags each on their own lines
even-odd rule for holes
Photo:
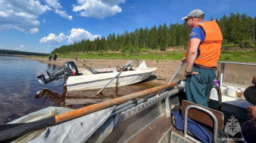
<svg viewBox="0 0 256 143">
<path fill-rule="evenodd" d="M 0 0 L 0 49 L 50 53 L 83 38 L 183 23 L 196 8 L 204 20 L 256 16 L 255 0 Z"/>
</svg>

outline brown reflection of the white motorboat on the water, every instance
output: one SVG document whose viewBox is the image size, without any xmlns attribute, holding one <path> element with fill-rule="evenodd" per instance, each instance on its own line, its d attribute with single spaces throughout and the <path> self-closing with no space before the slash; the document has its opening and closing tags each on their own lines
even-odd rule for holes
<svg viewBox="0 0 256 143">
<path fill-rule="evenodd" d="M 59 94 L 52 92 L 48 89 L 43 89 L 38 92 L 35 96 L 36 99 L 41 99 L 42 102 L 47 102 L 47 100 L 52 100 L 60 107 L 66 108 L 82 108 L 87 105 L 92 105 L 98 102 L 105 102 L 110 99 L 115 99 L 120 96 L 126 96 L 131 93 L 136 93 L 142 90 L 147 90 L 152 87 L 159 86 L 152 82 L 155 80 L 156 76 L 151 75 L 145 81 L 142 81 L 138 84 L 133 84 L 123 87 L 109 87 L 105 88 L 101 93 L 98 93 L 98 90 L 77 90 L 67 92 L 67 88 L 64 87 L 64 92 Z"/>
</svg>

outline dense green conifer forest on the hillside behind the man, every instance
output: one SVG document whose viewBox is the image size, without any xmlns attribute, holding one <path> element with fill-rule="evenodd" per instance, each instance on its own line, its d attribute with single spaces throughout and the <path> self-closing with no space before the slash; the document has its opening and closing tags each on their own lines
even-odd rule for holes
<svg viewBox="0 0 256 143">
<path fill-rule="evenodd" d="M 216 19 L 223 34 L 223 47 L 249 47 L 255 48 L 255 19 L 246 14 L 223 15 Z M 211 20 L 214 20 L 211 18 Z M 185 22 L 167 26 L 153 26 L 136 29 L 134 32 L 123 34 L 110 34 L 96 38 L 94 41 L 83 39 L 70 45 L 64 45 L 52 51 L 52 53 L 77 53 L 89 51 L 117 51 L 125 53 L 139 53 L 146 50 L 166 50 L 167 47 L 186 47 L 190 29 Z"/>
</svg>

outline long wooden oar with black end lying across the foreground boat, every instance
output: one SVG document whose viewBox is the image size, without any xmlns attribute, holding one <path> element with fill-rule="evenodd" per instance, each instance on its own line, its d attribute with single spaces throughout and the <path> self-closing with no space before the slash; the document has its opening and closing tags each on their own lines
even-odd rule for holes
<svg viewBox="0 0 256 143">
<path fill-rule="evenodd" d="M 121 96 L 117 99 L 111 99 L 111 100 L 108 100 L 105 102 L 100 102 L 100 103 L 97 103 L 94 105 L 89 105 L 89 106 L 86 106 L 83 108 L 69 111 L 64 114 L 59 114 L 59 115 L 56 115 L 53 117 L 48 117 L 46 119 L 38 120 L 38 121 L 35 121 L 32 123 L 26 123 L 26 124 L 23 124 L 20 126 L 13 127 L 11 129 L 6 129 L 6 130 L 0 132 L 0 141 L 6 141 L 11 138 L 17 138 L 17 137 L 20 137 L 21 135 L 25 135 L 26 133 L 32 132 L 37 129 L 43 129 L 47 126 L 53 126 L 58 123 L 63 123 L 64 121 L 72 120 L 76 117 L 81 117 L 83 115 L 90 114 L 95 111 L 100 111 L 105 108 L 110 108 L 114 105 L 120 105 L 123 102 L 128 102 L 131 99 L 143 98 L 143 97 L 147 96 L 148 94 L 156 93 L 158 91 L 161 91 L 167 87 L 172 87 L 174 85 L 176 85 L 176 84 L 175 83 L 165 84 L 165 85 L 162 85 L 159 87 L 154 87 L 154 88 L 151 88 L 148 90 L 142 90 L 137 93 L 132 93 L 132 94 L 129 94 L 126 96 Z M 1 126 L 0 126 L 0 128 L 1 128 Z"/>
</svg>

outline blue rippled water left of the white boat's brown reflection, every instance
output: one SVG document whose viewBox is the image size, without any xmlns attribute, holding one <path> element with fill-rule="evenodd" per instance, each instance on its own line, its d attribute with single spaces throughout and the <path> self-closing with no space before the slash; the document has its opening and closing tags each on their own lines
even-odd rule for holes
<svg viewBox="0 0 256 143">
<path fill-rule="evenodd" d="M 35 96 L 44 88 L 62 93 L 64 80 L 43 85 L 36 77 L 45 73 L 45 70 L 55 71 L 61 67 L 17 56 L 0 56 L 0 67 L 0 123 L 7 123 L 48 106 L 56 106 L 52 100 L 36 99 Z"/>
</svg>

